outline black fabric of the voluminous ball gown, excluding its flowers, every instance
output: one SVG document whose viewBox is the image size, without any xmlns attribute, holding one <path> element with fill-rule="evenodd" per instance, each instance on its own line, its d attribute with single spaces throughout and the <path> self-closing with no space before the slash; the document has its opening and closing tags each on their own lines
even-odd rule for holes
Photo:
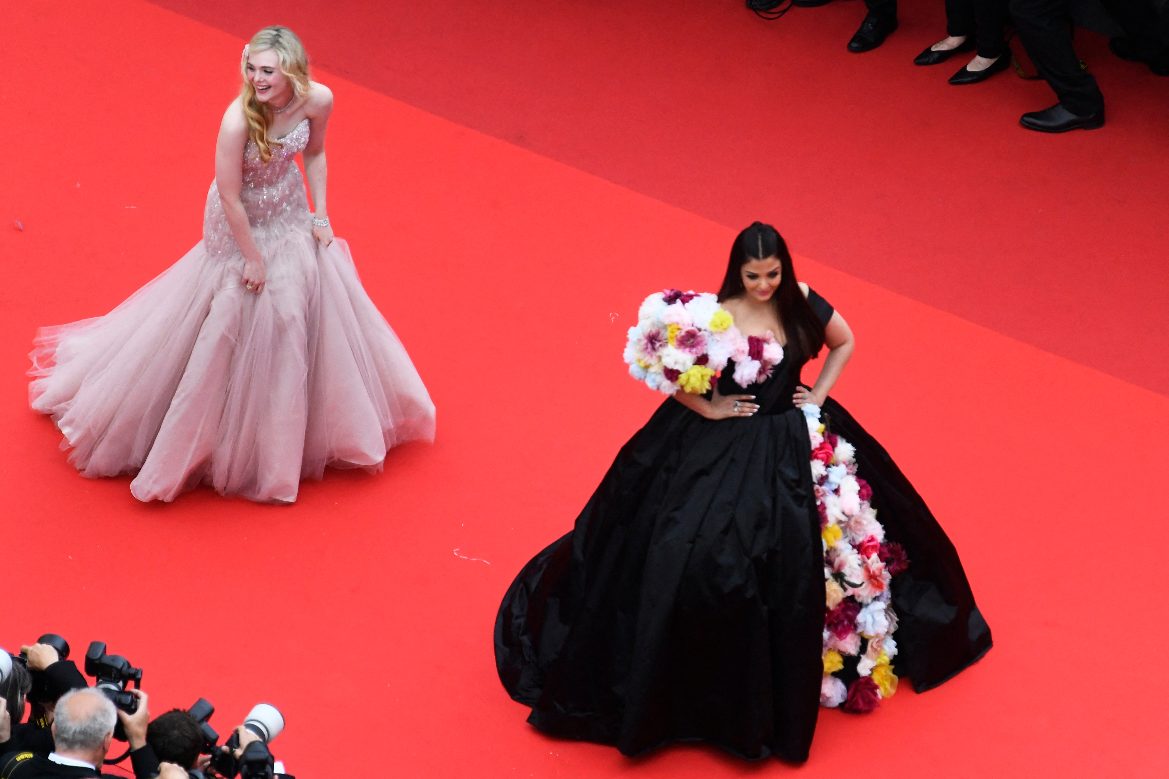
<svg viewBox="0 0 1169 779">
<path fill-rule="evenodd" d="M 809 301 L 826 324 L 832 307 Z M 803 363 L 743 390 L 753 417 L 711 420 L 667 398 L 622 447 L 570 533 L 512 583 L 496 665 L 528 722 L 641 754 L 701 740 L 746 759 L 808 759 L 823 679 L 824 545 L 804 415 Z M 919 693 L 990 648 L 954 545 L 888 453 L 839 403 L 823 412 L 856 447 L 887 540 L 895 673 Z"/>
</svg>

